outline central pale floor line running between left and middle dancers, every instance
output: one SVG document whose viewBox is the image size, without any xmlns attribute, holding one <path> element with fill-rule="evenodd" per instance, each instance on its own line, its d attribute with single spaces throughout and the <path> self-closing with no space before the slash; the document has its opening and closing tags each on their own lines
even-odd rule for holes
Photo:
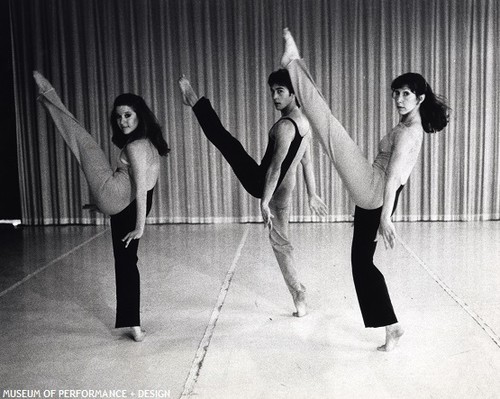
<svg viewBox="0 0 500 399">
<path fill-rule="evenodd" d="M 205 334 L 203 335 L 203 338 L 201 339 L 200 344 L 198 345 L 198 350 L 196 351 L 193 363 L 191 364 L 191 369 L 189 370 L 188 377 L 186 378 L 186 382 L 184 383 L 184 389 L 180 396 L 181 398 L 190 397 L 191 394 L 193 393 L 194 386 L 198 381 L 201 367 L 203 365 L 203 361 L 205 360 L 205 356 L 208 351 L 208 346 L 210 345 L 210 341 L 214 334 L 215 326 L 221 314 L 224 301 L 226 300 L 226 296 L 229 291 L 229 286 L 231 285 L 231 280 L 233 279 L 234 276 L 236 264 L 240 259 L 241 250 L 243 249 L 246 243 L 247 237 L 248 237 L 248 226 L 243 232 L 243 236 L 241 237 L 240 244 L 238 245 L 238 248 L 236 250 L 233 262 L 231 263 L 231 266 L 229 267 L 226 273 L 226 278 L 224 279 L 224 282 L 221 285 L 219 296 L 217 298 L 217 303 L 215 304 L 212 310 L 212 315 L 210 316 L 210 321 L 207 325 L 207 328 L 205 329 Z"/>
</svg>

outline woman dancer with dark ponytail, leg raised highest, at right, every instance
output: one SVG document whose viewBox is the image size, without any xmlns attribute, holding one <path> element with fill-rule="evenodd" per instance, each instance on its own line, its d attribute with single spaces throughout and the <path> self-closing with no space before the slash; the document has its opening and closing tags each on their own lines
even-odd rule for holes
<svg viewBox="0 0 500 399">
<path fill-rule="evenodd" d="M 283 37 L 281 64 L 289 71 L 304 114 L 356 204 L 351 262 L 365 326 L 385 326 L 386 341 L 378 349 L 390 351 L 404 329 L 394 313 L 384 276 L 373 264 L 377 230 L 386 247 L 392 248 L 396 235 L 391 216 L 399 193 L 417 162 L 424 131 L 442 130 L 448 123 L 448 107 L 421 75 L 396 78 L 391 88 L 400 121 L 380 141 L 379 153 L 370 164 L 328 108 L 287 28 Z"/>
</svg>

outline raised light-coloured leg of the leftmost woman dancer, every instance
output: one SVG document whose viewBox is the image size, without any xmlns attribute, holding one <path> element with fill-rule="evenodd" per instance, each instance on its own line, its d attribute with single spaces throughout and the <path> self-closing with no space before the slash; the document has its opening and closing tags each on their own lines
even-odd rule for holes
<svg viewBox="0 0 500 399">
<path fill-rule="evenodd" d="M 39 101 L 80 164 L 97 207 L 108 215 L 125 209 L 134 198 L 128 173 L 113 171 L 101 147 L 64 106 L 50 82 L 36 71 L 33 77 L 40 89 Z"/>
</svg>

